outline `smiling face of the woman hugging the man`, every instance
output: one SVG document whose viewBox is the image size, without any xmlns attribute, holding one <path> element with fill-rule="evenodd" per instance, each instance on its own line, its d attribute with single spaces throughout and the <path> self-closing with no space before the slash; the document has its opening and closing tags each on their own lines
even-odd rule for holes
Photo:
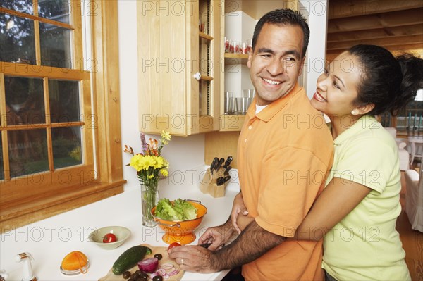
<svg viewBox="0 0 423 281">
<path fill-rule="evenodd" d="M 357 108 L 353 101 L 357 99 L 361 69 L 357 58 L 348 52 L 335 58 L 317 79 L 312 106 L 331 118 L 352 115 Z"/>
</svg>

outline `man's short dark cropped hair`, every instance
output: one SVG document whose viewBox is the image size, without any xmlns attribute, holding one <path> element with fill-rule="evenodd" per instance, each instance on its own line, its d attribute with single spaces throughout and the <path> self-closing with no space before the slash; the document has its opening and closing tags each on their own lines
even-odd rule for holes
<svg viewBox="0 0 423 281">
<path fill-rule="evenodd" d="M 265 23 L 271 23 L 274 25 L 298 25 L 301 27 L 302 34 L 304 38 L 302 40 L 302 58 L 305 57 L 305 52 L 307 51 L 307 46 L 310 38 L 310 30 L 305 21 L 305 18 L 298 13 L 298 11 L 293 11 L 291 9 L 278 9 L 270 11 L 260 18 L 257 22 L 257 25 L 254 29 L 254 35 L 252 35 L 252 49 L 255 49 L 255 44 L 257 38 L 259 37 L 260 31 Z"/>
</svg>

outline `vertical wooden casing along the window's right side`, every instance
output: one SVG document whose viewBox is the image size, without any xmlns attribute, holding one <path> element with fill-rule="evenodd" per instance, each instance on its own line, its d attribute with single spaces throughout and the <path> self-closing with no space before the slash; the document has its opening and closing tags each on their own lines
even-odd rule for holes
<svg viewBox="0 0 423 281">
<path fill-rule="evenodd" d="M 92 73 L 94 98 L 97 99 L 94 118 L 105 120 L 98 123 L 96 128 L 97 163 L 102 181 L 115 182 L 123 179 L 118 2 L 116 0 L 94 2 L 98 10 L 92 17 L 93 56 L 97 60 L 97 68 Z"/>
</svg>

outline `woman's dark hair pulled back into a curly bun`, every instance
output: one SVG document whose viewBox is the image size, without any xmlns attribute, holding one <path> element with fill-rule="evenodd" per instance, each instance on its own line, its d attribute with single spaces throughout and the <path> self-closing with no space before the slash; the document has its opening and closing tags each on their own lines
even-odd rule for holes
<svg viewBox="0 0 423 281">
<path fill-rule="evenodd" d="M 381 46 L 356 45 L 348 53 L 358 58 L 362 80 L 355 104 L 374 104 L 368 115 L 396 115 L 423 88 L 423 60 L 411 54 L 395 58 Z"/>
</svg>

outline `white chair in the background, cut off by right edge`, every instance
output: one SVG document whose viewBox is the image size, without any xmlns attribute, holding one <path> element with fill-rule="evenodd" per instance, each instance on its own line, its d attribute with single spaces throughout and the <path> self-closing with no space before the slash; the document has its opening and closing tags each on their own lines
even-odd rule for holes
<svg viewBox="0 0 423 281">
<path fill-rule="evenodd" d="M 420 169 L 420 175 L 416 170 L 406 170 L 405 182 L 405 213 L 411 228 L 423 232 L 423 169 Z"/>
</svg>

